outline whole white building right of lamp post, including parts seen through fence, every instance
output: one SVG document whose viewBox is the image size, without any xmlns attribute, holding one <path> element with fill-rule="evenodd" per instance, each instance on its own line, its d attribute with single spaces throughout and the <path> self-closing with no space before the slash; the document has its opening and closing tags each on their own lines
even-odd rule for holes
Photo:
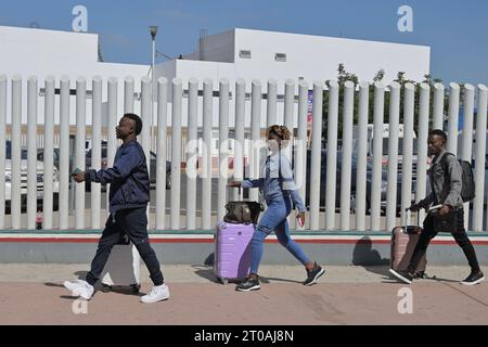
<svg viewBox="0 0 488 347">
<path fill-rule="evenodd" d="M 197 51 L 183 55 L 182 60 L 158 64 L 156 76 L 169 80 L 180 78 L 183 90 L 188 89 L 191 77 L 198 79 L 201 88 L 203 80 L 210 78 L 214 90 L 218 90 L 219 79 L 226 77 L 232 93 L 237 78 L 246 80 L 246 92 L 251 92 L 252 80 L 258 79 L 265 94 L 268 80 L 275 79 L 280 121 L 283 119 L 283 99 L 280 94 L 283 94 L 286 79 L 294 80 L 296 86 L 299 80 L 305 80 L 311 89 L 314 80 L 335 80 L 338 65 L 343 63 L 361 81 L 372 81 L 381 69 L 385 72 L 385 83 L 390 83 L 398 72 L 406 72 L 407 78 L 421 81 L 424 75 L 429 74 L 429 60 L 431 48 L 425 46 L 235 28 L 200 40 Z M 214 110 L 218 110 L 218 99 Z M 266 101 L 261 110 L 266 111 Z M 233 112 L 232 106 L 230 111 Z M 246 107 L 246 124 L 249 118 L 251 111 Z M 233 119 L 232 113 L 231 127 Z M 217 123 L 216 114 L 214 126 Z M 265 126 L 266 120 L 261 125 Z"/>
</svg>

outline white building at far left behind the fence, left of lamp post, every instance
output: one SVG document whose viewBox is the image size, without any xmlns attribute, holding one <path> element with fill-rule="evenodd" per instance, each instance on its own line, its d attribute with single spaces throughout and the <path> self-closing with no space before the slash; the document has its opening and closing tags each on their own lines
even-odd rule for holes
<svg viewBox="0 0 488 347">
<path fill-rule="evenodd" d="M 60 78 L 70 79 L 72 90 L 76 89 L 76 79 L 80 76 L 87 80 L 88 94 L 91 92 L 91 79 L 101 76 L 103 82 L 110 77 L 118 79 L 118 113 L 124 111 L 124 79 L 134 78 L 136 92 L 141 89 L 141 78 L 147 76 L 150 65 L 114 64 L 99 62 L 99 36 L 97 34 L 44 30 L 0 26 L 0 75 L 10 80 L 21 76 L 23 80 L 23 105 L 27 100 L 27 80 L 30 76 L 38 78 L 42 90 L 44 78 L 55 78 L 55 87 L 60 87 Z M 10 124 L 11 97 L 8 88 L 8 124 Z M 42 93 L 40 93 L 42 95 Z M 59 98 L 55 105 L 55 119 L 59 121 Z M 106 101 L 106 86 L 103 89 Z M 137 106 L 134 106 L 138 112 Z M 70 101 L 70 124 L 76 120 L 75 97 Z M 106 107 L 104 107 L 106 114 Z M 39 123 L 43 123 L 43 98 L 39 98 Z M 104 124 L 106 121 L 106 116 Z M 23 124 L 27 120 L 27 110 L 23 107 Z M 91 100 L 87 100 L 87 121 L 91 124 Z"/>
</svg>

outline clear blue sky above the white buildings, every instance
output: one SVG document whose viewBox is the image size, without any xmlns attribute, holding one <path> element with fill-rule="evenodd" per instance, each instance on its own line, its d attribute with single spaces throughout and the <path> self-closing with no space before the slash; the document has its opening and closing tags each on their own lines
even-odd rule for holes
<svg viewBox="0 0 488 347">
<path fill-rule="evenodd" d="M 149 25 L 157 50 L 193 52 L 201 28 L 234 27 L 431 46 L 432 75 L 488 85 L 487 0 L 16 0 L 0 4 L 0 25 L 72 30 L 72 9 L 88 9 L 107 62 L 150 64 Z M 400 33 L 400 5 L 413 9 L 413 33 Z M 347 67 L 347 66 L 346 66 Z"/>
</svg>

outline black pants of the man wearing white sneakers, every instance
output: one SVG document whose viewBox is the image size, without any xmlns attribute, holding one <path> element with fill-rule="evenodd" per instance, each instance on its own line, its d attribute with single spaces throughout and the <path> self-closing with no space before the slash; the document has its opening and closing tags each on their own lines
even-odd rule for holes
<svg viewBox="0 0 488 347">
<path fill-rule="evenodd" d="M 91 270 L 87 274 L 88 283 L 91 285 L 97 283 L 108 260 L 112 248 L 116 244 L 123 243 L 124 235 L 126 234 L 138 248 L 142 260 L 150 271 L 150 277 L 154 285 L 162 285 L 164 283 L 159 261 L 150 244 L 145 210 L 145 207 L 121 209 L 115 214 L 115 220 L 112 214 L 108 216 L 102 237 L 99 241 L 97 254 L 91 261 Z"/>
</svg>

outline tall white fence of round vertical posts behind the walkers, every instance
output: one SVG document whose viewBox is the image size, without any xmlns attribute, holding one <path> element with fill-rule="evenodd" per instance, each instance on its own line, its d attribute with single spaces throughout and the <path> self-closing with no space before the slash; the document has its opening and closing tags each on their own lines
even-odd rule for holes
<svg viewBox="0 0 488 347">
<path fill-rule="evenodd" d="M 56 81 L 53 78 L 47 78 L 42 81 L 44 87 L 43 110 L 38 110 L 39 86 L 38 80 L 31 77 L 27 80 L 27 95 L 22 95 L 23 80 L 20 77 L 13 77 L 9 80 L 5 76 L 0 76 L 0 143 L 5 143 L 7 133 L 4 131 L 8 113 L 11 113 L 11 144 L 12 160 L 11 170 L 7 176 L 0 175 L 0 230 L 1 229 L 35 229 L 37 215 L 36 201 L 36 153 L 38 147 L 37 123 L 38 114 L 43 113 L 44 128 L 42 142 L 44 147 L 43 157 L 43 229 L 53 229 L 53 218 L 59 218 L 57 226 L 61 230 L 66 229 L 101 229 L 103 227 L 103 218 L 101 209 L 98 206 L 104 205 L 101 202 L 101 188 L 99 184 L 91 187 L 91 206 L 90 223 L 87 223 L 86 214 L 86 192 L 85 184 L 76 184 L 74 200 L 74 214 L 70 214 L 68 207 L 69 201 L 69 83 L 67 78 L 61 78 L 59 81 L 60 95 L 55 95 L 54 86 Z M 143 78 L 141 82 L 141 100 L 140 110 L 134 110 L 134 82 L 132 78 L 124 80 L 124 110 L 117 110 L 118 103 L 118 81 L 115 78 L 108 79 L 106 82 L 101 78 L 94 77 L 92 83 L 92 102 L 91 110 L 87 110 L 87 80 L 82 77 L 76 80 L 76 145 L 74 153 L 74 167 L 84 168 L 86 165 L 85 140 L 87 114 L 91 114 L 91 140 L 92 140 L 92 168 L 101 167 L 101 140 L 102 140 L 102 91 L 106 88 L 107 98 L 107 160 L 108 167 L 113 164 L 116 152 L 117 140 L 115 138 L 115 129 L 118 119 L 124 113 L 137 113 L 141 116 L 144 124 L 140 141 L 150 158 L 150 150 L 155 149 L 157 153 L 157 183 L 155 192 L 155 220 L 154 226 L 157 230 L 193 230 L 203 229 L 210 230 L 213 224 L 211 210 L 211 149 L 213 143 L 213 115 L 218 114 L 219 117 L 219 167 L 217 184 L 217 220 L 224 215 L 224 205 L 228 198 L 242 198 L 236 193 L 228 195 L 226 184 L 230 179 L 242 180 L 244 177 L 257 178 L 259 172 L 259 163 L 262 159 L 264 145 L 261 124 L 266 119 L 266 125 L 272 125 L 278 121 L 277 102 L 278 86 L 274 80 L 270 80 L 267 86 L 267 94 L 264 98 L 261 83 L 258 80 L 251 81 L 251 86 L 243 79 L 237 79 L 232 98 L 229 98 L 229 81 L 223 78 L 218 86 L 218 110 L 214 110 L 214 85 L 213 81 L 206 79 L 203 81 L 203 90 L 198 94 L 198 80 L 191 78 L 188 81 L 188 92 L 183 93 L 183 82 L 176 78 L 168 81 L 165 78 L 157 80 L 156 95 L 152 95 L 152 82 L 149 78 Z M 187 87 L 187 86 L 185 86 Z M 251 88 L 249 88 L 251 87 Z M 8 110 L 8 88 L 10 89 L 11 107 Z M 425 196 L 426 193 L 426 170 L 427 170 L 427 133 L 429 130 L 429 118 L 433 118 L 433 128 L 442 128 L 444 124 L 444 97 L 445 87 L 437 83 L 434 87 L 434 113 L 429 114 L 429 95 L 431 87 L 422 85 L 420 87 L 420 112 L 415 119 L 414 116 L 414 95 L 415 87 L 406 85 L 401 88 L 398 83 L 391 83 L 386 87 L 381 82 L 374 85 L 374 137 L 378 139 L 383 136 L 383 123 L 385 112 L 389 113 L 389 140 L 388 140 L 388 165 L 387 165 L 387 207 L 386 222 L 381 224 L 381 203 L 382 203 L 382 159 L 383 141 L 373 142 L 372 155 L 372 184 L 371 194 L 367 196 L 367 146 L 368 134 L 367 125 L 369 118 L 369 88 L 370 85 L 362 82 L 355 86 L 352 82 L 345 83 L 344 112 L 343 112 L 343 133 L 337 133 L 338 107 L 339 107 L 339 86 L 331 82 L 325 87 L 323 82 L 316 81 L 312 85 L 313 104 L 312 104 L 312 126 L 311 126 L 311 143 L 307 143 L 308 137 L 308 95 L 309 85 L 306 81 L 299 81 L 296 86 L 293 80 L 287 80 L 283 88 L 284 103 L 283 124 L 288 128 L 295 128 L 296 138 L 292 143 L 295 146 L 293 152 L 295 178 L 299 185 L 299 192 L 304 201 L 306 200 L 306 184 L 310 185 L 309 213 L 307 214 L 307 229 L 320 230 L 357 230 L 357 231 L 380 231 L 390 230 L 398 220 L 397 214 L 397 185 L 401 184 L 401 210 L 404 210 L 411 204 L 412 196 L 412 170 L 413 170 L 413 128 L 414 123 L 419 125 L 418 133 L 418 158 L 416 158 L 416 194 L 415 201 Z M 247 90 L 251 89 L 251 98 L 246 98 Z M 358 93 L 355 93 L 358 91 Z M 485 193 L 485 167 L 486 167 L 486 134 L 487 134 L 487 88 L 479 85 L 474 88 L 471 85 L 464 86 L 464 100 L 460 101 L 460 87 L 455 83 L 449 86 L 449 113 L 448 113 L 448 150 L 458 154 L 461 158 L 472 160 L 475 158 L 475 180 L 476 180 L 476 198 L 471 203 L 472 213 L 470 213 L 470 204 L 466 204 L 466 227 L 472 226 L 474 231 L 483 231 L 484 219 L 485 224 L 488 219 L 486 211 Z M 329 94 L 328 103 L 328 129 L 322 128 L 323 114 L 323 95 Z M 385 92 L 390 93 L 389 110 L 384 110 Z M 477 92 L 476 99 L 475 93 Z M 404 117 L 403 117 L 403 156 L 401 182 L 398 182 L 398 131 L 399 131 L 399 114 L 400 114 L 400 93 L 404 93 Z M 183 95 L 188 98 L 188 107 L 182 107 Z M 247 93 L 247 95 L 249 95 Z M 359 95 L 358 121 L 354 124 L 354 104 L 355 98 Z M 26 104 L 23 104 L 23 98 Z M 59 184 L 53 184 L 53 147 L 54 147 L 54 105 L 55 99 L 59 98 L 60 127 L 59 146 L 60 146 L 60 180 Z M 261 104 L 266 99 L 267 110 L 261 110 Z M 477 117 L 474 119 L 474 105 L 477 103 Z M 460 102 L 463 104 L 464 123 L 462 129 L 461 153 L 458 152 L 458 123 Z M 198 107 L 198 105 L 202 105 Z M 230 107 L 235 107 L 235 112 L 230 113 Z M 22 185 L 21 170 L 21 147 L 22 136 L 22 108 L 27 108 L 27 185 Z M 169 111 L 170 110 L 170 111 Z M 188 112 L 183 113 L 183 110 Z M 170 114 L 169 114 L 170 112 Z M 251 117 L 246 117 L 246 112 L 251 112 Z M 230 129 L 230 115 L 235 117 L 235 127 Z M 152 124 L 153 116 L 157 118 L 156 133 L 151 133 L 147 125 Z M 264 118 L 266 117 L 266 118 Z M 168 119 L 171 119 L 170 136 L 167 134 Z M 188 120 L 185 138 L 182 138 L 182 119 Z M 476 120 L 476 121 L 475 121 Z M 198 126 L 202 125 L 202 126 Z M 354 150 L 354 126 L 360 131 L 355 134 L 358 150 Z M 227 146 L 222 145 L 229 140 L 230 130 L 233 130 L 234 145 L 232 153 L 229 153 Z M 328 132 L 326 143 L 326 182 L 322 189 L 325 194 L 325 213 L 321 213 L 321 158 L 322 158 L 322 132 Z M 168 132 L 169 133 L 169 132 Z M 202 136 L 200 139 L 197 134 Z M 341 208 L 338 223 L 336 222 L 336 163 L 337 163 L 337 139 L 342 138 L 342 168 L 341 168 Z M 473 155 L 474 143 L 476 149 Z M 198 145 L 194 145 L 198 143 Z M 251 144 L 251 146 L 249 146 Z M 168 146 L 170 145 L 169 154 Z M 203 145 L 203 147 L 202 147 Z M 307 165 L 307 149 L 310 149 L 310 162 Z M 198 168 L 198 179 L 201 179 L 201 210 L 196 210 L 196 180 L 191 172 L 195 167 L 194 158 L 203 153 L 203 159 Z M 287 149 L 288 155 L 292 155 L 291 147 Z M 233 177 L 228 177 L 229 156 L 233 157 Z M 243 171 L 244 156 L 248 160 L 248 172 Z M 357 160 L 357 175 L 351 177 L 351 160 Z M 166 160 L 171 160 L 171 189 L 169 193 L 169 215 L 166 213 Z M 187 163 L 185 171 L 182 171 L 181 163 Z M 0 171 L 7 171 L 7 160 L 4 146 L 0 147 Z M 305 182 L 306 171 L 310 170 L 310 182 Z M 194 171 L 194 170 L 193 170 Z M 7 172 L 5 172 L 7 174 Z M 187 174 L 187 175 L 185 175 Z M 223 175 L 222 175 L 223 174 Z M 187 180 L 185 191 L 181 192 L 181 179 Z M 356 180 L 355 198 L 351 200 L 351 183 Z M 57 193 L 59 185 L 59 213 L 53 213 L 53 196 Z M 10 188 L 9 188 L 10 187 Z M 7 190 L 10 190 L 10 194 Z M 182 206 L 180 194 L 185 195 L 185 204 Z M 214 192 L 215 193 L 215 192 Z M 27 215 L 22 214 L 22 196 L 27 196 Z M 5 197 L 10 196 L 11 215 L 7 216 Z M 337 196 L 338 197 L 338 196 Z M 249 200 L 257 201 L 258 192 L 252 190 Z M 370 216 L 367 219 L 367 198 L 370 203 Z M 355 209 L 351 213 L 351 201 L 355 203 Z M 152 202 L 154 204 L 154 202 Z M 106 205 L 108 202 L 106 202 Z M 421 213 L 421 217 L 423 214 Z M 8 226 L 9 217 L 11 223 Z M 70 218 L 74 217 L 74 218 Z M 168 219 L 169 217 L 169 219 Z M 23 218 L 26 218 L 26 226 L 23 227 Z M 185 219 L 184 226 L 181 220 Z M 472 218 L 470 222 L 470 218 Z M 370 221 L 367 226 L 367 221 Z M 351 222 L 354 221 L 354 223 Z M 401 222 L 407 221 L 402 216 Z M 351 226 L 355 224 L 355 228 Z M 321 228 L 321 226 L 324 226 Z M 486 227 L 485 227 L 486 228 Z M 488 231 L 488 228 L 487 228 Z"/>
</svg>

